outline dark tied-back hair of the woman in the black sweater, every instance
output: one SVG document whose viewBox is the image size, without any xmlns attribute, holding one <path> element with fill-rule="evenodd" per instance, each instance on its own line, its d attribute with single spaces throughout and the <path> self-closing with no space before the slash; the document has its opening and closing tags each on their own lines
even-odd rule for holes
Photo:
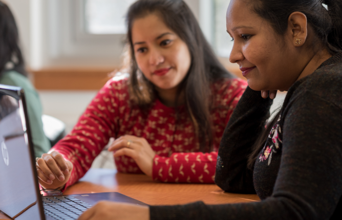
<svg viewBox="0 0 342 220">
<path fill-rule="evenodd" d="M 331 55 L 342 51 L 342 0 L 253 0 L 249 2 L 252 3 L 252 10 L 269 21 L 279 35 L 286 32 L 290 14 L 296 11 L 302 12 L 307 17 L 308 26 L 313 30 L 313 44 L 326 48 Z M 327 5 L 328 10 L 322 4 Z M 263 134 L 255 142 L 248 159 L 249 168 L 253 168 L 279 116 L 280 112 L 268 123 Z"/>
</svg>

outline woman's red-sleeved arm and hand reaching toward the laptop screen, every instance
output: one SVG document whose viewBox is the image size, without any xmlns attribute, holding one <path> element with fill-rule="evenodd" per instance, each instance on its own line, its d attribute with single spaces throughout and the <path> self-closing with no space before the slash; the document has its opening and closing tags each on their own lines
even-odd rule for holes
<svg viewBox="0 0 342 220">
<path fill-rule="evenodd" d="M 122 81 L 113 80 L 106 83 L 71 133 L 59 141 L 50 153 L 43 154 L 42 159 L 37 161 L 38 178 L 42 187 L 64 186 L 65 189 L 77 182 L 91 167 L 109 138 L 115 136 L 118 106 L 123 105 L 125 101 L 120 100 L 120 94 L 125 92 L 121 83 Z M 64 175 L 61 170 L 65 170 Z"/>
</svg>

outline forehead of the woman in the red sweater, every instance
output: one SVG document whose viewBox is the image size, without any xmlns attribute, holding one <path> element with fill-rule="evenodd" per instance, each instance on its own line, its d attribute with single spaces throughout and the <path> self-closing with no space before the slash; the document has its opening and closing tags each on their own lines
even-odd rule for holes
<svg viewBox="0 0 342 220">
<path fill-rule="evenodd" d="M 148 14 L 142 18 L 138 18 L 132 25 L 132 40 L 146 41 L 155 40 L 163 33 L 174 33 L 164 23 L 161 16 L 157 14 Z"/>
</svg>

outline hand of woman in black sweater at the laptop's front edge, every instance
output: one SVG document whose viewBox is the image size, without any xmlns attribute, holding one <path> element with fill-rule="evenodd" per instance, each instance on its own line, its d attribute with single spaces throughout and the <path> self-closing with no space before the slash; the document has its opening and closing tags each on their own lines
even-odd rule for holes
<svg viewBox="0 0 342 220">
<path fill-rule="evenodd" d="M 128 203 L 98 202 L 94 207 L 85 211 L 78 220 L 135 220 L 149 219 L 148 206 L 138 206 Z"/>
</svg>

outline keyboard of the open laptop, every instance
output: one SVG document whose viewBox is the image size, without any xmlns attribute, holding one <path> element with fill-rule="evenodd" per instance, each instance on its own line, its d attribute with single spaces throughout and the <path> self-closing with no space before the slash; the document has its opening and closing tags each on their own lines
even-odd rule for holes
<svg viewBox="0 0 342 220">
<path fill-rule="evenodd" d="M 75 197 L 58 196 L 42 198 L 44 213 L 55 219 L 77 219 L 84 211 L 92 206 Z"/>
</svg>

